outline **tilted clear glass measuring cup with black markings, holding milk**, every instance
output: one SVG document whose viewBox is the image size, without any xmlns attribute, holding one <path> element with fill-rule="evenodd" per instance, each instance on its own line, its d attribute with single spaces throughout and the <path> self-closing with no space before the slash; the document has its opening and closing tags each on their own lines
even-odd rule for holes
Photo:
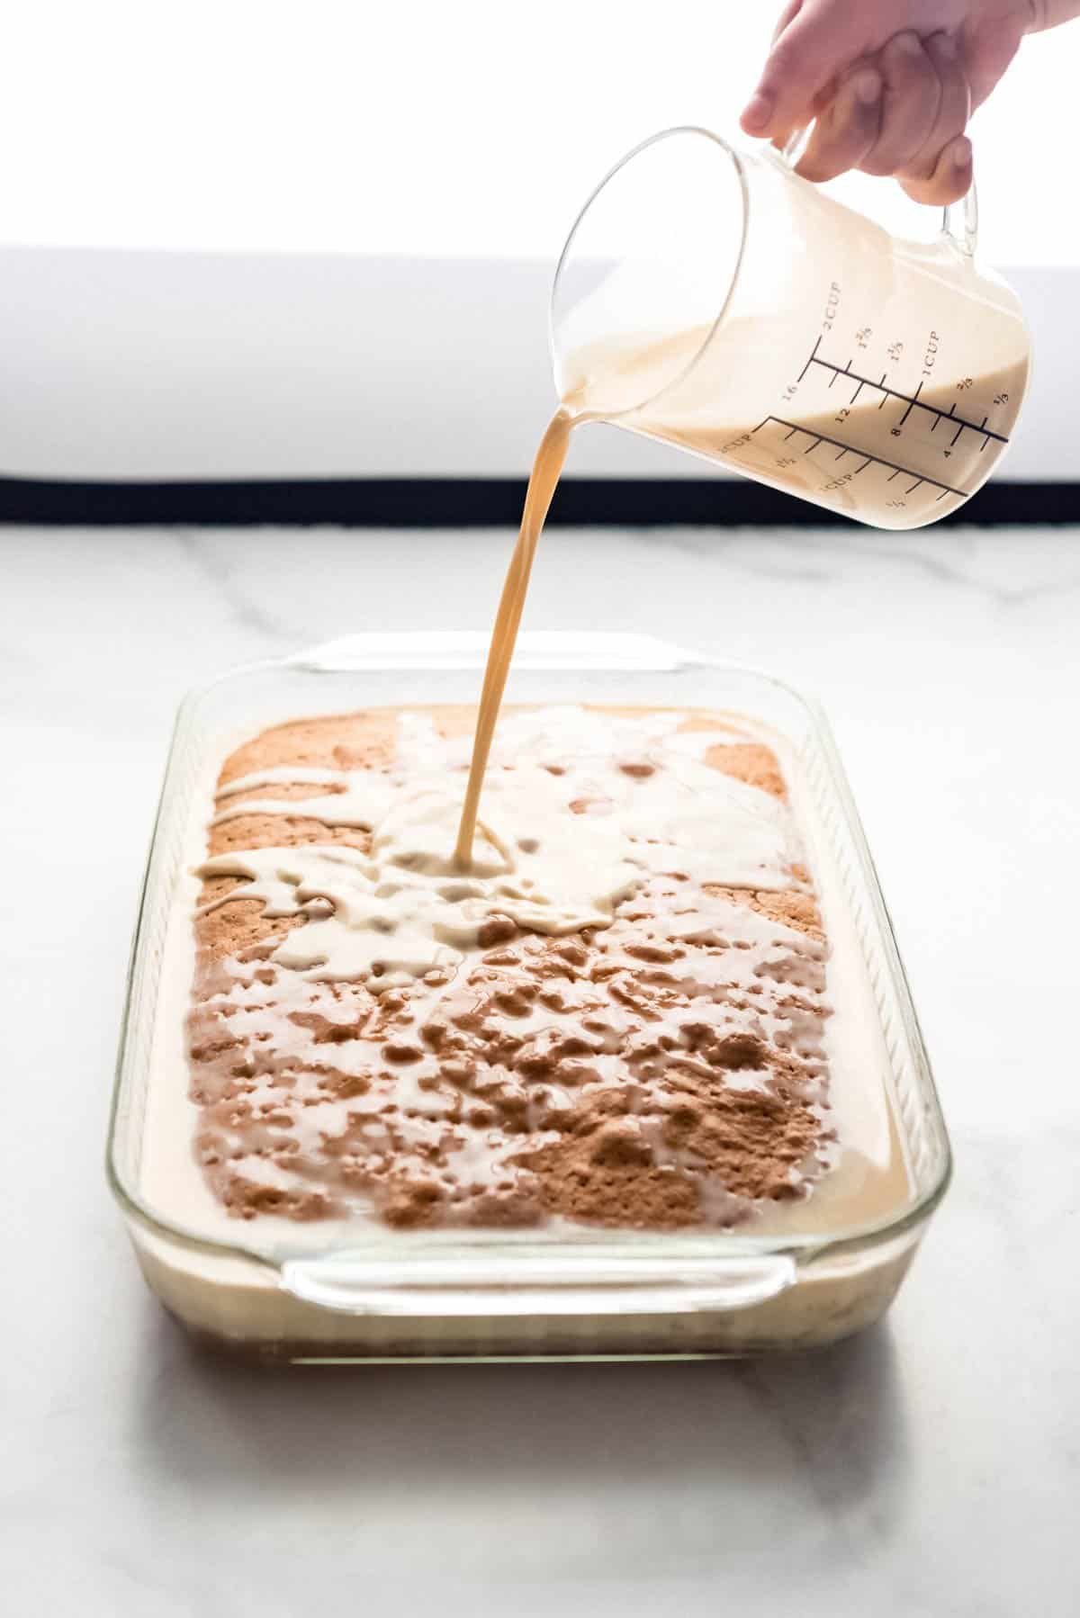
<svg viewBox="0 0 1080 1618">
<path fill-rule="evenodd" d="M 1020 303 L 975 244 L 973 193 L 938 241 L 900 241 L 771 147 L 665 129 L 570 231 L 555 383 L 572 409 L 921 527 L 989 477 L 1028 383 Z"/>
</svg>

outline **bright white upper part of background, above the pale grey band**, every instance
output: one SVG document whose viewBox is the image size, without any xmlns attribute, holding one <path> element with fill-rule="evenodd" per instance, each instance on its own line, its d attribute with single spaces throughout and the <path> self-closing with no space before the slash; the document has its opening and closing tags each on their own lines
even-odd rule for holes
<svg viewBox="0 0 1080 1618">
<path fill-rule="evenodd" d="M 672 123 L 733 131 L 782 0 L 23 0 L 0 243 L 547 260 Z M 991 262 L 1080 264 L 1080 24 L 978 113 Z M 895 223 L 912 205 L 866 181 Z"/>
</svg>

